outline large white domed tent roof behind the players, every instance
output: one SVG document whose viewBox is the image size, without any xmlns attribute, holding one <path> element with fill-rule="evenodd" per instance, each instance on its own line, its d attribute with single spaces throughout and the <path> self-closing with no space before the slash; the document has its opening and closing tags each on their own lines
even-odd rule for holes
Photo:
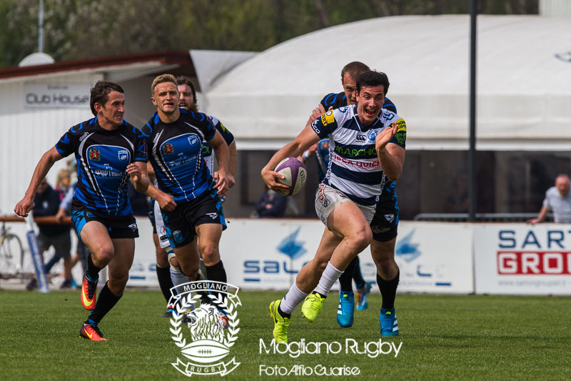
<svg viewBox="0 0 571 381">
<path fill-rule="evenodd" d="M 240 149 L 276 149 L 342 90 L 343 66 L 363 61 L 388 74 L 408 149 L 468 149 L 469 48 L 468 15 L 335 26 L 243 62 L 208 91 L 206 107 Z M 476 147 L 571 147 L 571 17 L 477 17 Z"/>
</svg>

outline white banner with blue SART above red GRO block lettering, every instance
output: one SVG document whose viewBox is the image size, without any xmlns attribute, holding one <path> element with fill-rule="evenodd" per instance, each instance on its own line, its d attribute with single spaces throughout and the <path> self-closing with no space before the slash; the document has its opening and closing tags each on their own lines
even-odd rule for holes
<svg viewBox="0 0 571 381">
<path fill-rule="evenodd" d="M 476 292 L 570 295 L 570 234 L 563 224 L 475 225 Z"/>
</svg>

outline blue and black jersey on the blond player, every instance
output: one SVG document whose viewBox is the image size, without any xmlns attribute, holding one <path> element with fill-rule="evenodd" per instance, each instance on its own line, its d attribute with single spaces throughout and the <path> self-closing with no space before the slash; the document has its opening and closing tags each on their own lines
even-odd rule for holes
<svg viewBox="0 0 571 381">
<path fill-rule="evenodd" d="M 173 123 L 161 122 L 155 113 L 141 129 L 157 187 L 171 194 L 176 203 L 190 202 L 211 189 L 212 174 L 202 147 L 216 134 L 205 114 L 180 111 L 181 117 Z"/>
</svg>

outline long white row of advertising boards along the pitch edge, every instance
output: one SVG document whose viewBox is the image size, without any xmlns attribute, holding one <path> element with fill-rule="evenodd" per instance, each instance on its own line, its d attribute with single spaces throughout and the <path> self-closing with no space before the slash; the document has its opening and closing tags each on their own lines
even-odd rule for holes
<svg viewBox="0 0 571 381">
<path fill-rule="evenodd" d="M 141 238 L 129 286 L 158 286 L 151 224 Z M 302 219 L 231 219 L 222 234 L 228 282 L 250 290 L 287 290 L 315 254 L 323 224 Z M 399 292 L 571 295 L 571 230 L 562 224 L 400 222 L 395 257 Z M 368 249 L 365 280 L 375 280 Z"/>
</svg>

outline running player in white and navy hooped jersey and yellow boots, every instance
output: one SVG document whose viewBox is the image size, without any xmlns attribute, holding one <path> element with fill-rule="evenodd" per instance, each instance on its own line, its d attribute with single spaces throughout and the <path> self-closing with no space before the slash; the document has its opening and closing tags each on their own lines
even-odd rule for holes
<svg viewBox="0 0 571 381">
<path fill-rule="evenodd" d="M 381 113 L 388 77 L 367 71 L 356 86 L 358 104 L 327 112 L 308 124 L 261 172 L 268 187 L 285 194 L 288 187 L 276 182 L 283 178 L 273 171 L 276 164 L 330 137 L 330 168 L 315 194 L 315 210 L 326 228 L 315 257 L 303 266 L 288 293 L 270 305 L 276 342 L 287 342 L 291 313 L 304 299 L 303 315 L 315 320 L 340 274 L 373 239 L 369 224 L 384 177 L 398 179 L 402 171 L 401 155 L 387 146 L 398 142 L 405 122 L 393 112 Z"/>
</svg>

